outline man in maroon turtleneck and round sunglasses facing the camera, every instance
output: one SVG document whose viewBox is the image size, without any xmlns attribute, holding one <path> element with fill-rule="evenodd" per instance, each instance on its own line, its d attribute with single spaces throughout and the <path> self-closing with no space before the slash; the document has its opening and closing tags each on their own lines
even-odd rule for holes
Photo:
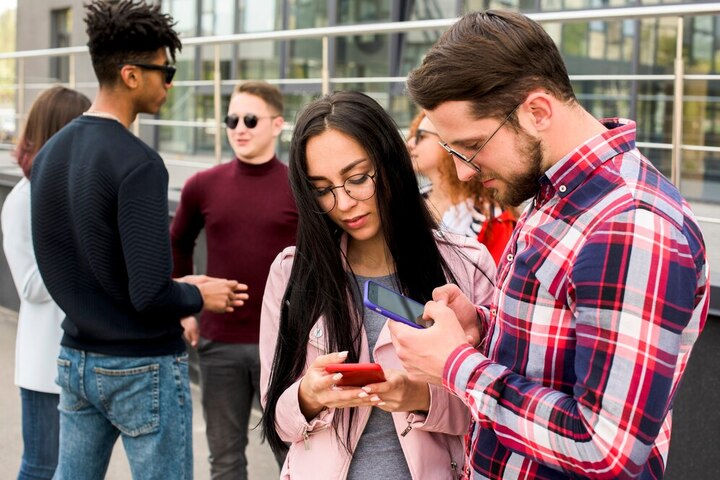
<svg viewBox="0 0 720 480">
<path fill-rule="evenodd" d="M 267 82 L 235 88 L 225 117 L 235 156 L 185 183 L 171 226 L 175 276 L 193 273 L 195 241 L 204 228 L 207 274 L 241 278 L 249 288 L 250 298 L 230 316 L 206 312 L 200 318 L 196 341 L 214 480 L 247 478 L 249 416 L 260 394 L 265 282 L 277 254 L 295 244 L 297 209 L 287 166 L 275 155 L 282 111 L 282 93 Z"/>
</svg>

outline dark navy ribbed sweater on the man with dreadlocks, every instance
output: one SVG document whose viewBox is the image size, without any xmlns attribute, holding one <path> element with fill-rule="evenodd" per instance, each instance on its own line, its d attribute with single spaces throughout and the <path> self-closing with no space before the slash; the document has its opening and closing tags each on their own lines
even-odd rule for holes
<svg viewBox="0 0 720 480">
<path fill-rule="evenodd" d="M 67 315 L 62 344 L 116 356 L 183 351 L 179 319 L 202 297 L 171 280 L 160 156 L 120 123 L 83 116 L 38 152 L 31 185 L 40 274 Z"/>
</svg>

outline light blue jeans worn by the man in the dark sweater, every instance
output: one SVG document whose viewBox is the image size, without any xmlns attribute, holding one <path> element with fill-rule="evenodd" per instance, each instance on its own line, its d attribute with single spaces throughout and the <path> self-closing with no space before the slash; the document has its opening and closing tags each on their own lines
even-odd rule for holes
<svg viewBox="0 0 720 480">
<path fill-rule="evenodd" d="M 187 354 L 115 357 L 62 347 L 56 480 L 104 478 L 118 436 L 139 479 L 192 479 Z"/>
</svg>

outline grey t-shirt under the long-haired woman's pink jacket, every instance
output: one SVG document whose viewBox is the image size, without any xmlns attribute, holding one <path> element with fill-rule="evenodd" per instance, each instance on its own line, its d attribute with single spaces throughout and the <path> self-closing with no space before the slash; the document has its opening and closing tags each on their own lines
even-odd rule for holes
<svg viewBox="0 0 720 480">
<path fill-rule="evenodd" d="M 350 279 L 352 281 L 352 276 L 350 276 Z M 380 285 L 394 290 L 397 289 L 395 275 L 373 278 L 356 275 L 356 279 L 359 290 L 355 291 L 354 294 L 359 296 L 360 305 L 362 305 L 361 292 L 365 287 L 366 280 L 373 280 Z M 368 347 L 370 348 L 370 361 L 375 361 L 373 349 L 380 335 L 380 330 L 382 330 L 386 321 L 387 319 L 382 315 L 378 315 L 369 308 L 363 308 L 363 324 L 368 338 Z M 368 423 L 353 453 L 347 478 L 351 480 L 411 478 L 405 455 L 402 447 L 400 447 L 400 440 L 395 430 L 392 414 L 379 408 L 373 408 L 370 412 Z"/>
</svg>

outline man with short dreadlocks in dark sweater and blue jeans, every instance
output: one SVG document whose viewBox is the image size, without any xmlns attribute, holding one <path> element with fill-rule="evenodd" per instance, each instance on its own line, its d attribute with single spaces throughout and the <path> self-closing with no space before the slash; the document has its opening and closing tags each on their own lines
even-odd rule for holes
<svg viewBox="0 0 720 480">
<path fill-rule="evenodd" d="M 86 5 L 99 89 L 86 114 L 38 152 L 32 229 L 38 266 L 65 312 L 58 359 L 56 479 L 105 476 L 122 436 L 135 479 L 192 478 L 192 406 L 180 319 L 231 312 L 244 285 L 171 279 L 168 173 L 128 131 L 157 113 L 181 44 L 144 1 Z"/>
</svg>

